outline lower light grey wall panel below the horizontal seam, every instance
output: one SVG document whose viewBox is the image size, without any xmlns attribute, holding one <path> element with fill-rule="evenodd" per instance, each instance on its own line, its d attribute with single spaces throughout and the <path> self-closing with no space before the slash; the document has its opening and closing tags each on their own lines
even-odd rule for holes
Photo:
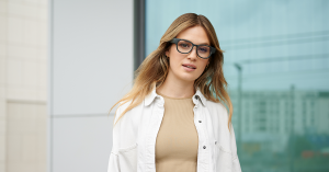
<svg viewBox="0 0 329 172">
<path fill-rule="evenodd" d="M 113 116 L 53 118 L 52 172 L 105 172 Z"/>
</svg>

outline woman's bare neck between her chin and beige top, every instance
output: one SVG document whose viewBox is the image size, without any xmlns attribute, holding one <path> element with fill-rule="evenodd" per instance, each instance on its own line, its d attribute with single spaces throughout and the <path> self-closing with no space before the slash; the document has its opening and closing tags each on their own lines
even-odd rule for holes
<svg viewBox="0 0 329 172">
<path fill-rule="evenodd" d="M 169 98 L 191 98 L 195 93 L 194 81 L 175 80 L 168 74 L 157 92 Z"/>
</svg>

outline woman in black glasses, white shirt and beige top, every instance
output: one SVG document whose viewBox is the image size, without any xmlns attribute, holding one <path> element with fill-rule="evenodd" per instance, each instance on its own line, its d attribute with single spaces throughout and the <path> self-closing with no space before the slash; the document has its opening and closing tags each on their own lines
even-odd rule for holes
<svg viewBox="0 0 329 172">
<path fill-rule="evenodd" d="M 241 171 L 223 61 L 205 16 L 173 21 L 116 103 L 109 172 Z"/>
</svg>

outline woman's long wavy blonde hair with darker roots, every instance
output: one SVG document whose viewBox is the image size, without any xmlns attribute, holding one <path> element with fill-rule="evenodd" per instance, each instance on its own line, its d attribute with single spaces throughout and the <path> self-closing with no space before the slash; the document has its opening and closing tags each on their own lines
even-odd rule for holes
<svg viewBox="0 0 329 172">
<path fill-rule="evenodd" d="M 219 47 L 219 43 L 212 23 L 205 16 L 197 15 L 195 13 L 185 13 L 175 19 L 161 37 L 159 47 L 148 55 L 143 64 L 138 67 L 135 72 L 136 79 L 134 81 L 133 89 L 110 110 L 111 112 L 112 108 L 118 103 L 123 105 L 132 101 L 117 121 L 126 112 L 140 104 L 152 91 L 154 87 L 158 88 L 164 82 L 169 70 L 169 59 L 166 58 L 164 53 L 168 50 L 170 45 L 172 45 L 172 43 L 169 42 L 182 31 L 196 25 L 202 26 L 205 30 L 209 38 L 211 46 L 216 48 L 216 53 L 209 58 L 208 67 L 194 81 L 194 88 L 198 88 L 207 100 L 213 102 L 222 101 L 228 106 L 228 128 L 230 129 L 229 126 L 232 116 L 232 104 L 226 91 L 227 82 L 223 73 L 224 51 Z"/>
</svg>

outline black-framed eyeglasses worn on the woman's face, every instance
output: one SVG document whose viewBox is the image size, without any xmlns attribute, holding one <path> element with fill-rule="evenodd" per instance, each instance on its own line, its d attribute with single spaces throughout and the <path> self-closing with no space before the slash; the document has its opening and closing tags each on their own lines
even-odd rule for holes
<svg viewBox="0 0 329 172">
<path fill-rule="evenodd" d="M 196 46 L 196 54 L 200 58 L 207 59 L 209 58 L 215 51 L 216 48 L 207 45 L 195 45 L 190 41 L 181 39 L 181 38 L 173 38 L 170 43 L 175 44 L 177 50 L 181 54 L 189 54 L 194 46 Z"/>
</svg>

